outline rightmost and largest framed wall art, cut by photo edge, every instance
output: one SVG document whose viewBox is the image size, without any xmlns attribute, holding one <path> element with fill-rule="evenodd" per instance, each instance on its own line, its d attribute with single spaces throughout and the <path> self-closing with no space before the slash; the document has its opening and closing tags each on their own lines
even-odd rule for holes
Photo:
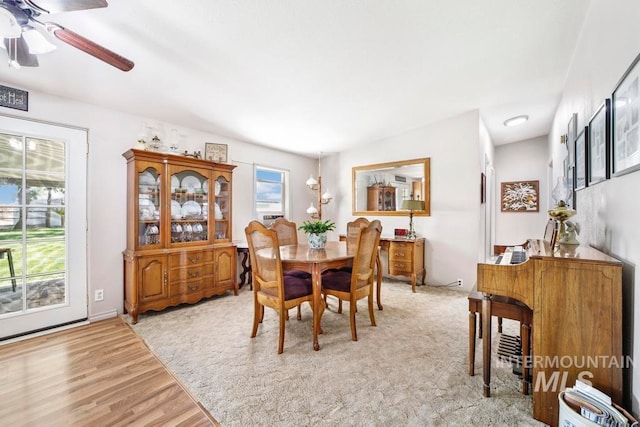
<svg viewBox="0 0 640 427">
<path fill-rule="evenodd" d="M 611 97 L 612 173 L 624 175 L 640 169 L 640 55 L 616 85 Z"/>
</svg>

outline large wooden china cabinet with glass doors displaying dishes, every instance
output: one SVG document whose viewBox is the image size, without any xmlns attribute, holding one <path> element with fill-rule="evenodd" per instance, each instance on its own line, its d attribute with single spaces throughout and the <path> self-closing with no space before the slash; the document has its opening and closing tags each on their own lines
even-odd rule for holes
<svg viewBox="0 0 640 427">
<path fill-rule="evenodd" d="M 235 166 L 131 149 L 127 159 L 125 309 L 148 310 L 233 291 L 231 183 Z"/>
</svg>

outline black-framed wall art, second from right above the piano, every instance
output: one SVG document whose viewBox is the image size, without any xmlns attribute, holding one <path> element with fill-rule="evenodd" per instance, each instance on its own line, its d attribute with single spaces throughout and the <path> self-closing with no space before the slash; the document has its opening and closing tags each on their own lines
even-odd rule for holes
<svg viewBox="0 0 640 427">
<path fill-rule="evenodd" d="M 589 148 L 587 150 L 587 185 L 609 179 L 609 134 L 611 129 L 611 101 L 605 99 L 589 120 Z"/>
</svg>

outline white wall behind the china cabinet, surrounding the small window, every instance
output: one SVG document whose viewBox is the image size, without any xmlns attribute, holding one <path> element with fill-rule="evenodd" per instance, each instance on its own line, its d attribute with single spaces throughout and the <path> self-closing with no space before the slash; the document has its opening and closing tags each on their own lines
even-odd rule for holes
<svg viewBox="0 0 640 427">
<path fill-rule="evenodd" d="M 29 90 L 29 88 L 21 88 Z M 97 319 L 123 310 L 122 251 L 126 244 L 126 161 L 122 153 L 136 147 L 136 137 L 149 119 L 29 90 L 29 112 L 3 110 L 6 115 L 38 119 L 89 129 L 88 164 L 88 269 L 89 295 L 104 289 L 104 301 L 89 298 L 89 318 Z M 244 240 L 244 227 L 253 215 L 253 166 L 289 169 L 292 189 L 292 218 L 306 219 L 311 196 L 304 181 L 317 170 L 314 159 L 271 150 L 165 123 L 165 131 L 178 129 L 186 135 L 180 150 L 204 152 L 206 142 L 229 144 L 229 159 L 238 167 L 233 182 L 233 239 Z M 301 183 L 301 185 L 295 185 Z"/>
</svg>

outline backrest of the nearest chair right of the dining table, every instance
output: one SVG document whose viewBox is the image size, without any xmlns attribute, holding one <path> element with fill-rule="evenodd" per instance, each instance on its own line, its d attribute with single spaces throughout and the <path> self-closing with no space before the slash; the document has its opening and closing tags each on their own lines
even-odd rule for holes
<svg viewBox="0 0 640 427">
<path fill-rule="evenodd" d="M 351 270 L 351 292 L 373 283 L 373 271 L 381 233 L 382 224 L 377 219 L 359 230 Z"/>
</svg>

